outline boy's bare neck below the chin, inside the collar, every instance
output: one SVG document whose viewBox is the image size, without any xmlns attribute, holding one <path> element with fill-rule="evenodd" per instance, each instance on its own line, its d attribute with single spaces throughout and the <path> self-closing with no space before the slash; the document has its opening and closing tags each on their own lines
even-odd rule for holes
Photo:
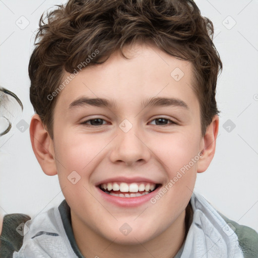
<svg viewBox="0 0 258 258">
<path fill-rule="evenodd" d="M 182 246 L 187 231 L 185 228 L 185 210 L 160 235 L 144 243 L 136 241 L 135 244 L 130 245 L 119 244 L 115 240 L 109 241 L 100 236 L 78 218 L 75 219 L 72 211 L 71 219 L 76 243 L 85 257 L 149 258 L 153 256 L 172 258 Z"/>
</svg>

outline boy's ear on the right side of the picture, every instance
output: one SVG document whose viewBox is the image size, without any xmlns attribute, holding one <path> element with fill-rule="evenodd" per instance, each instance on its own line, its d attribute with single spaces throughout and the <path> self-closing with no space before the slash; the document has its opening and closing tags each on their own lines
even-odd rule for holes
<svg viewBox="0 0 258 258">
<path fill-rule="evenodd" d="M 207 126 L 205 136 L 201 142 L 201 153 L 202 157 L 198 162 L 198 173 L 202 173 L 209 167 L 216 149 L 216 140 L 219 131 L 219 116 L 215 115 L 212 122 Z"/>
</svg>

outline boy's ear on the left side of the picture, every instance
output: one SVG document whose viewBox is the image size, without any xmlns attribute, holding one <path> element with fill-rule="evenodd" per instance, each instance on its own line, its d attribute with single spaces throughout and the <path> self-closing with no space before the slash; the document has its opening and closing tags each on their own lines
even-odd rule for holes
<svg viewBox="0 0 258 258">
<path fill-rule="evenodd" d="M 56 175 L 53 140 L 38 114 L 34 114 L 30 123 L 30 141 L 34 154 L 46 175 Z"/>
</svg>

